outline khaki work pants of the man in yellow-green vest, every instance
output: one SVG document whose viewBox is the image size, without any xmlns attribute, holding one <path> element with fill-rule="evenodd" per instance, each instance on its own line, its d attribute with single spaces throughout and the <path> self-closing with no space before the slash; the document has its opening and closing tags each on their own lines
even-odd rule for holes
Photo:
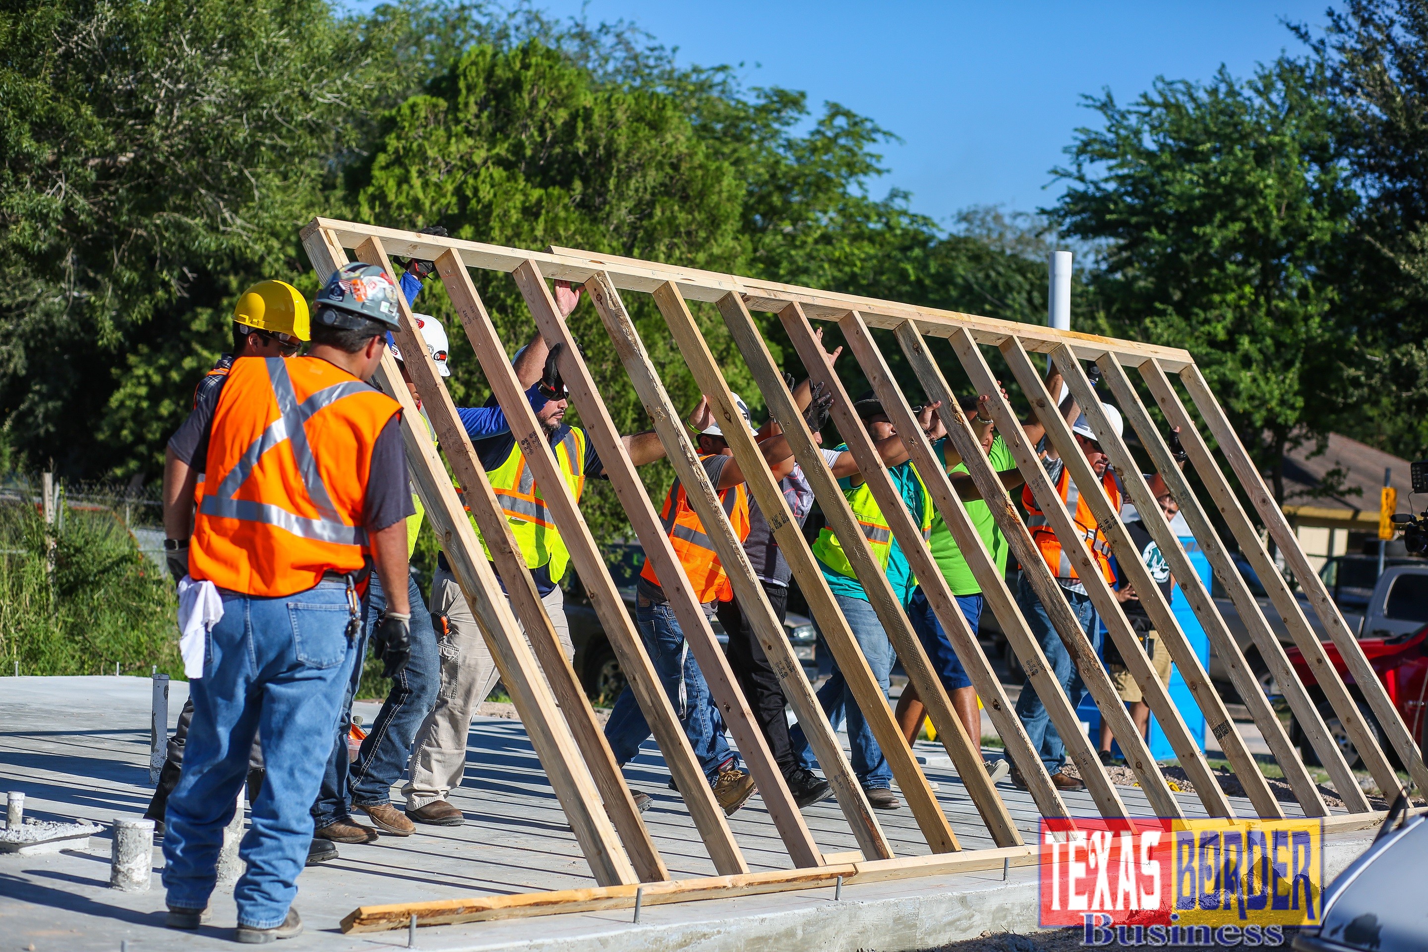
<svg viewBox="0 0 1428 952">
<path fill-rule="evenodd" d="M 564 592 L 557 585 L 543 601 L 560 645 L 565 649 L 565 658 L 573 658 L 575 649 L 570 642 Z M 451 572 L 440 568 L 431 582 L 431 614 L 446 615 L 450 632 L 443 637 L 437 628 L 441 688 L 437 691 L 436 707 L 417 731 L 411 751 L 411 779 L 401 788 L 407 809 L 411 811 L 446 799 L 461 785 L 471 718 L 500 677 L 461 587 Z"/>
</svg>

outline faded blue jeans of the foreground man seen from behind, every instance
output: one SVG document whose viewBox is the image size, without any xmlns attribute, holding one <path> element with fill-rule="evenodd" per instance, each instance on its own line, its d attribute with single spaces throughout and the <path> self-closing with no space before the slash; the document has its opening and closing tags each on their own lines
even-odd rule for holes
<svg viewBox="0 0 1428 952">
<path fill-rule="evenodd" d="M 208 905 L 223 828 L 233 819 L 257 734 L 267 774 L 238 848 L 248 869 L 233 898 L 240 925 L 271 929 L 287 918 L 313 841 L 308 806 L 357 655 L 347 641 L 348 617 L 347 587 L 338 581 L 281 598 L 223 592 L 203 678 L 190 682 L 193 722 L 183 775 L 169 798 L 169 905 Z"/>
</svg>

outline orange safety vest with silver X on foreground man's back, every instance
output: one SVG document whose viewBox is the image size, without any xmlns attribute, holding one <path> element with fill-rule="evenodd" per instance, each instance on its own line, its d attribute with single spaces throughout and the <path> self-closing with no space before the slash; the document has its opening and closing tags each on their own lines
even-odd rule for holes
<svg viewBox="0 0 1428 952">
<path fill-rule="evenodd" d="M 274 598 L 363 567 L 371 451 L 400 404 L 318 357 L 243 357 L 214 408 L 188 574 Z"/>
</svg>

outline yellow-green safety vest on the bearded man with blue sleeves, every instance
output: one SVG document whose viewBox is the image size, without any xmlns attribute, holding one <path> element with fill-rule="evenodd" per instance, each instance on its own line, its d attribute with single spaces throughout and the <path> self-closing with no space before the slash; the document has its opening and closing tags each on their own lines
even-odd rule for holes
<svg viewBox="0 0 1428 952">
<path fill-rule="evenodd" d="M 585 431 L 571 427 L 554 450 L 555 462 L 560 464 L 560 471 L 565 475 L 571 495 L 578 501 L 585 488 Z M 550 579 L 558 582 L 565 575 L 565 565 L 570 564 L 570 550 L 565 548 L 565 541 L 560 538 L 560 530 L 550 518 L 545 500 L 536 485 L 536 477 L 530 467 L 526 465 L 526 455 L 520 447 L 513 442 L 506 461 L 487 472 L 486 478 L 491 481 L 501 511 L 506 512 L 506 518 L 511 524 L 511 532 L 526 558 L 526 567 L 540 568 L 550 562 Z M 474 518 L 471 525 L 476 525 Z M 476 537 L 481 538 L 480 528 L 477 528 Z M 486 540 L 481 540 L 481 548 L 486 551 L 486 557 L 491 558 L 491 550 L 487 548 Z"/>
</svg>

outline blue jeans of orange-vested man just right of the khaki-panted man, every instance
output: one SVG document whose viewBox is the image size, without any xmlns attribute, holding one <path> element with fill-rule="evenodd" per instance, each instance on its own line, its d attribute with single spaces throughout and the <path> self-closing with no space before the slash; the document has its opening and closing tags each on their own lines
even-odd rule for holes
<svg viewBox="0 0 1428 952">
<path fill-rule="evenodd" d="M 654 671 L 660 675 L 660 684 L 664 685 L 664 692 L 684 725 L 684 734 L 690 738 L 694 756 L 713 784 L 718 779 L 721 766 L 738 764 L 738 755 L 730 751 L 724 731 L 715 722 L 715 708 L 713 698 L 710 698 L 708 684 L 694 661 L 694 652 L 684 644 L 684 632 L 674 617 L 674 609 L 670 608 L 668 602 L 654 604 L 640 597 L 634 609 L 634 621 L 640 629 L 640 638 L 644 641 L 644 649 L 650 652 Z M 615 762 L 620 766 L 628 764 L 648 738 L 650 725 L 644 719 L 640 704 L 634 699 L 634 691 L 625 685 L 620 698 L 615 699 L 608 724 L 605 724 L 605 739 L 610 741 Z"/>
</svg>

